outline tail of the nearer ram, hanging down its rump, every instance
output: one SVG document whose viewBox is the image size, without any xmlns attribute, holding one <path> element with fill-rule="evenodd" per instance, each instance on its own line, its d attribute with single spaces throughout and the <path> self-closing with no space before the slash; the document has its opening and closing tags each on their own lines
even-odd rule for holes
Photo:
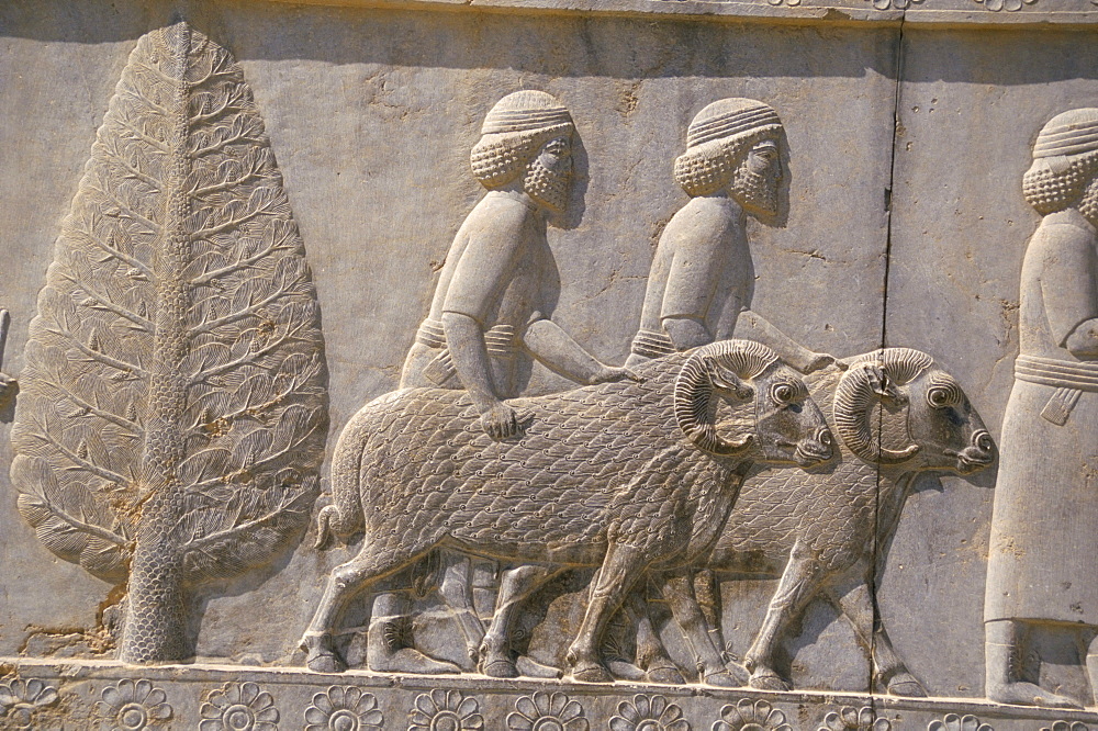
<svg viewBox="0 0 1098 731">
<path fill-rule="evenodd" d="M 340 542 L 362 529 L 360 470 L 369 437 L 368 421 L 359 412 L 347 423 L 332 456 L 332 505 L 316 516 L 316 548 L 325 548 L 334 535 Z"/>
</svg>

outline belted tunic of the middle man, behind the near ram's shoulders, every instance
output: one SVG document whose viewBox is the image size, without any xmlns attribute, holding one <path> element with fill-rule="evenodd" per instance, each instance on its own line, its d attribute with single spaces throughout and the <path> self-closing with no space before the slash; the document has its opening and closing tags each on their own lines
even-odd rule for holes
<svg viewBox="0 0 1098 731">
<path fill-rule="evenodd" d="M 713 340 L 732 337 L 752 283 L 741 216 L 728 198 L 695 198 L 674 215 L 652 261 L 635 352 L 652 358 L 674 349 L 663 329 L 668 317 L 702 322 Z"/>
</svg>

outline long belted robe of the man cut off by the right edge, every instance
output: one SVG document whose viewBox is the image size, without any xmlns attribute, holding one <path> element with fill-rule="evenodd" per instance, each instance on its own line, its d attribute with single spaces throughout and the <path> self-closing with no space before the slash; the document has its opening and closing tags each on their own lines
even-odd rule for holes
<svg viewBox="0 0 1098 731">
<path fill-rule="evenodd" d="M 1094 226 L 1065 211 L 1044 220 L 1026 251 L 985 621 L 1098 625 L 1098 362 L 1064 345 L 1098 316 L 1095 244 Z"/>
</svg>

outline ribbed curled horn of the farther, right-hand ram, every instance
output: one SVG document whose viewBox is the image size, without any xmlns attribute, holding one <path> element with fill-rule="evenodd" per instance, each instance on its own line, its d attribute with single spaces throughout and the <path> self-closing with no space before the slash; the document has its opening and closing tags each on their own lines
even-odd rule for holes
<svg viewBox="0 0 1098 731">
<path fill-rule="evenodd" d="M 858 358 L 842 374 L 832 406 L 836 431 L 850 451 L 867 462 L 886 464 L 904 462 L 915 457 L 918 445 L 904 449 L 886 449 L 870 429 L 870 406 L 886 384 L 876 378 L 883 372 L 896 385 L 904 385 L 927 370 L 933 359 L 910 348 L 884 348 Z"/>
</svg>

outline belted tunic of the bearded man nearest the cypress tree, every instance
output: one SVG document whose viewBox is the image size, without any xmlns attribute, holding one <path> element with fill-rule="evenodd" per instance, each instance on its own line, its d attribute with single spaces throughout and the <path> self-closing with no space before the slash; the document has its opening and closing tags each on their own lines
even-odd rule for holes
<svg viewBox="0 0 1098 731">
<path fill-rule="evenodd" d="M 450 245 L 430 314 L 404 361 L 401 387 L 463 387 L 446 352 L 441 318 L 450 312 L 483 328 L 496 397 L 518 396 L 525 375 L 516 358 L 522 334 L 552 310 L 557 285 L 545 220 L 522 201 L 489 193 Z"/>
</svg>

